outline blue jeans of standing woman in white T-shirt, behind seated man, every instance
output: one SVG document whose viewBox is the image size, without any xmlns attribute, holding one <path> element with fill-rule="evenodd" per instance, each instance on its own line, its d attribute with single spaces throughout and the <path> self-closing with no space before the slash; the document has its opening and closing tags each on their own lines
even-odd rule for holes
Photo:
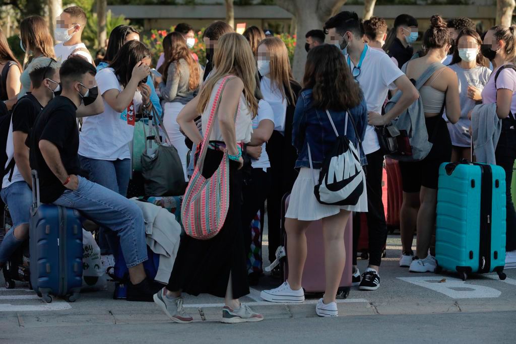
<svg viewBox="0 0 516 344">
<path fill-rule="evenodd" d="M 127 186 L 131 178 L 131 159 L 98 160 L 79 155 L 80 165 L 88 171 L 89 180 L 102 185 L 109 190 L 127 194 Z M 100 228 L 99 247 L 102 254 L 115 253 L 118 249 L 116 235 L 109 232 L 109 228 Z"/>
</svg>

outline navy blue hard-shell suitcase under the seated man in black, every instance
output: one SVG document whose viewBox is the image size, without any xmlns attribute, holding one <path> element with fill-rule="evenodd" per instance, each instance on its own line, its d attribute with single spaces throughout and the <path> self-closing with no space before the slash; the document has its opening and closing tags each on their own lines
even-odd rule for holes
<svg viewBox="0 0 516 344">
<path fill-rule="evenodd" d="M 53 296 L 73 302 L 83 277 L 83 230 L 79 212 L 53 204 L 40 204 L 39 180 L 33 171 L 33 205 L 30 209 L 30 282 L 45 302 Z"/>
</svg>

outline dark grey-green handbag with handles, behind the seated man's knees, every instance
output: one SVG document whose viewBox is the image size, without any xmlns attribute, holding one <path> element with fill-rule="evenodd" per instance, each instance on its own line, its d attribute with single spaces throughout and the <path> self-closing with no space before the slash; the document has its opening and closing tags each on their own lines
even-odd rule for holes
<svg viewBox="0 0 516 344">
<path fill-rule="evenodd" d="M 181 196 L 185 193 L 186 185 L 183 164 L 178 151 L 170 144 L 170 138 L 166 130 L 165 136 L 168 143 L 162 143 L 159 138 L 158 125 L 163 125 L 162 119 L 153 108 L 153 118 L 149 121 L 150 130 L 154 129 L 155 135 L 149 136 L 144 141 L 145 150 L 141 155 L 141 174 L 144 179 L 145 194 L 148 196 Z M 154 122 L 154 125 L 153 125 Z M 153 148 L 153 143 L 157 146 Z"/>
</svg>

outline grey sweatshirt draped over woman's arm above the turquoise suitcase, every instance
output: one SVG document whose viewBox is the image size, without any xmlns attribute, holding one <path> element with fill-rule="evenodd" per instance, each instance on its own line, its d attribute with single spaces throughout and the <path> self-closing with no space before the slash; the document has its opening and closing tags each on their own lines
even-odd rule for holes
<svg viewBox="0 0 516 344">
<path fill-rule="evenodd" d="M 494 151 L 502 132 L 502 120 L 496 116 L 496 103 L 477 105 L 473 108 L 471 129 L 477 162 L 495 165 Z"/>
</svg>

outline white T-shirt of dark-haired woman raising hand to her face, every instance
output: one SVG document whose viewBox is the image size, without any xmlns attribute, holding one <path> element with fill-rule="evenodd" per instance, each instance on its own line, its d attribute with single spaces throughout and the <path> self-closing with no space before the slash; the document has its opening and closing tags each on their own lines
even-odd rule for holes
<svg viewBox="0 0 516 344">
<path fill-rule="evenodd" d="M 116 89 L 122 92 L 115 71 L 104 68 L 95 75 L 99 95 Z M 104 100 L 104 112 L 85 117 L 80 132 L 79 155 L 99 160 L 131 158 L 129 143 L 134 135 L 134 115 L 142 103 L 141 93 L 136 91 L 133 102 L 123 112 L 111 108 Z M 129 116 L 127 112 L 129 111 Z"/>
</svg>

